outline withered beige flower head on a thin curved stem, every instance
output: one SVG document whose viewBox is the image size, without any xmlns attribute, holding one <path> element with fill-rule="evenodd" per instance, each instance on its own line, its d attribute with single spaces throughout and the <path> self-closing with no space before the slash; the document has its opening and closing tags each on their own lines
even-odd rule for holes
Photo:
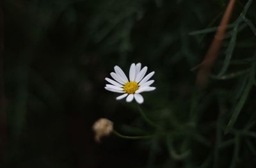
<svg viewBox="0 0 256 168">
<path fill-rule="evenodd" d="M 100 142 L 102 137 L 108 136 L 113 131 L 113 123 L 109 119 L 100 118 L 92 126 L 95 132 L 95 141 Z"/>
</svg>

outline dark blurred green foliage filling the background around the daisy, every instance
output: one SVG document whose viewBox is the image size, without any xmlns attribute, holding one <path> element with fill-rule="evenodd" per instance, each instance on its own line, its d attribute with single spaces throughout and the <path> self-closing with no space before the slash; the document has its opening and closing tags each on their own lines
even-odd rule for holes
<svg viewBox="0 0 256 168">
<path fill-rule="evenodd" d="M 254 1 L 236 1 L 207 89 L 196 89 L 190 71 L 227 3 L 3 0 L 0 167 L 255 167 Z M 161 129 L 104 90 L 113 66 L 127 72 L 133 62 L 156 72 L 142 109 Z M 101 117 L 124 134 L 153 137 L 95 144 L 91 127 Z"/>
</svg>

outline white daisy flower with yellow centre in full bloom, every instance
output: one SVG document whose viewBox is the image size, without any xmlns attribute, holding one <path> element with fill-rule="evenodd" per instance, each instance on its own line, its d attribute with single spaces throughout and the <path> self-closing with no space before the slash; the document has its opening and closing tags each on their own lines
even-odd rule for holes
<svg viewBox="0 0 256 168">
<path fill-rule="evenodd" d="M 150 72 L 145 76 L 148 67 L 145 66 L 141 69 L 141 63 L 137 63 L 136 65 L 132 63 L 129 72 L 129 80 L 119 66 L 115 66 L 114 70 L 115 72 L 111 72 L 110 75 L 115 80 L 106 77 L 105 79 L 110 84 L 106 84 L 105 89 L 122 93 L 121 96 L 116 97 L 116 100 L 121 100 L 126 97 L 126 102 L 132 102 L 132 100 L 135 99 L 136 102 L 143 103 L 144 98 L 140 93 L 144 91 L 154 91 L 154 89 L 156 89 L 150 86 L 154 83 L 154 80 L 149 80 L 155 72 Z"/>
</svg>

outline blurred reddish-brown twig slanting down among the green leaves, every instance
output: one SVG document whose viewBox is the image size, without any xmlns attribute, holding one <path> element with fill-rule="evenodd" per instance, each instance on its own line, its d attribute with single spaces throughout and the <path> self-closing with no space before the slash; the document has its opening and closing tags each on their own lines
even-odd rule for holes
<svg viewBox="0 0 256 168">
<path fill-rule="evenodd" d="M 221 42 L 225 35 L 228 21 L 230 20 L 230 16 L 234 9 L 235 2 L 236 2 L 236 0 L 229 1 L 227 9 L 225 10 L 225 13 L 220 22 L 220 26 L 218 27 L 218 30 L 214 36 L 214 40 L 212 41 L 211 46 L 209 47 L 209 50 L 207 51 L 207 54 L 205 55 L 204 61 L 202 61 L 202 63 L 200 63 L 200 65 L 197 65 L 197 66 L 195 66 L 195 68 L 191 69 L 191 70 L 195 70 L 197 68 L 200 68 L 200 70 L 197 74 L 197 77 L 196 77 L 196 85 L 199 88 L 205 88 L 205 85 L 209 78 L 209 73 L 211 72 L 211 67 L 214 64 L 214 61 L 216 60 L 216 58 L 218 57 L 220 47 L 221 47 Z"/>
</svg>

